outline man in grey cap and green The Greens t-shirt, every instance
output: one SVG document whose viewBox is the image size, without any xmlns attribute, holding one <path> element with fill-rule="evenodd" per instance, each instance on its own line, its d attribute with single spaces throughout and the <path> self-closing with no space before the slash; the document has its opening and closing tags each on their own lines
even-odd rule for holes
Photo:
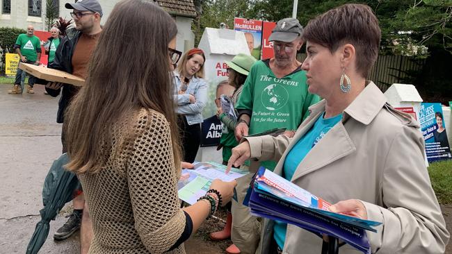
<svg viewBox="0 0 452 254">
<path fill-rule="evenodd" d="M 275 57 L 259 60 L 252 66 L 236 105 L 239 112 L 235 130 L 237 140 L 273 128 L 286 128 L 284 135 L 293 137 L 302 120 L 309 115 L 309 106 L 320 101 L 317 95 L 307 92 L 306 74 L 296 59 L 303 44 L 301 35 L 302 26 L 297 19 L 277 22 L 268 39 L 273 42 Z M 242 205 L 250 180 L 259 166 L 273 170 L 276 162 L 250 162 L 250 173 L 237 181 L 238 202 L 232 201 L 231 238 L 242 253 L 255 253 L 259 244 L 259 221 Z"/>
</svg>

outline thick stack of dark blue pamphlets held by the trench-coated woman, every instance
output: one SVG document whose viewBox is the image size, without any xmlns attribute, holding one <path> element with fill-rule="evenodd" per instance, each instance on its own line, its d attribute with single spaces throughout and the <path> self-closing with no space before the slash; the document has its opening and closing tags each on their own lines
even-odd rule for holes
<svg viewBox="0 0 452 254">
<path fill-rule="evenodd" d="M 291 223 L 321 237 L 337 237 L 363 253 L 371 253 L 365 230 L 376 232 L 378 221 L 330 212 L 330 203 L 261 167 L 244 205 L 251 213 Z"/>
</svg>

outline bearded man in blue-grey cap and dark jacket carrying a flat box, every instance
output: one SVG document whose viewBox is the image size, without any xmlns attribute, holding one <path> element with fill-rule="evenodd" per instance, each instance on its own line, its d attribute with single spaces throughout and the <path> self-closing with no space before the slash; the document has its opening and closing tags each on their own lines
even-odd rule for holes
<svg viewBox="0 0 452 254">
<path fill-rule="evenodd" d="M 100 26 L 100 19 L 103 14 L 102 7 L 97 0 L 79 0 L 76 3 L 66 3 L 65 7 L 73 10 L 70 14 L 74 19 L 75 28 L 66 32 L 67 35 L 58 45 L 54 62 L 49 64 L 49 68 L 66 71 L 79 78 L 86 79 L 88 61 L 102 31 Z M 49 95 L 54 97 L 58 96 L 60 91 L 63 91 L 58 103 L 56 122 L 63 124 L 61 142 L 63 153 L 65 153 L 64 113 L 73 96 L 79 92 L 79 88 L 69 84 L 52 82 L 47 83 L 45 89 Z M 80 250 L 81 253 L 88 253 L 92 239 L 92 226 L 83 192 L 80 191 L 80 193 L 73 201 L 74 212 L 70 214 L 67 222 L 56 231 L 54 239 L 66 239 L 81 228 Z"/>
</svg>

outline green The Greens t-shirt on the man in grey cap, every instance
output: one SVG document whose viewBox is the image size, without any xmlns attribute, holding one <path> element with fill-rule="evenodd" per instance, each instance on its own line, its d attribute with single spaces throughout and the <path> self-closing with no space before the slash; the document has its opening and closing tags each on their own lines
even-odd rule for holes
<svg viewBox="0 0 452 254">
<path fill-rule="evenodd" d="M 309 115 L 309 106 L 320 101 L 307 92 L 306 73 L 300 68 L 283 78 L 277 78 L 268 60 L 257 61 L 243 85 L 237 110 L 251 110 L 248 134 L 272 128 L 296 130 Z M 261 162 L 267 169 L 275 169 L 276 162 Z"/>
</svg>

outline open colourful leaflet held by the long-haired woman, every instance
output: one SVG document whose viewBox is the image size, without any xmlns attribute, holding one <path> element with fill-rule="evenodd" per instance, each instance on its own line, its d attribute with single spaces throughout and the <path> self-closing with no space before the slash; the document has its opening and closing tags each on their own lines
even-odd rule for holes
<svg viewBox="0 0 452 254">
<path fill-rule="evenodd" d="M 220 179 L 230 182 L 245 175 L 245 171 L 232 169 L 226 174 L 226 166 L 215 162 L 195 162 L 193 169 L 182 169 L 181 178 L 177 183 L 179 198 L 190 205 L 204 196 L 213 180 Z"/>
</svg>

